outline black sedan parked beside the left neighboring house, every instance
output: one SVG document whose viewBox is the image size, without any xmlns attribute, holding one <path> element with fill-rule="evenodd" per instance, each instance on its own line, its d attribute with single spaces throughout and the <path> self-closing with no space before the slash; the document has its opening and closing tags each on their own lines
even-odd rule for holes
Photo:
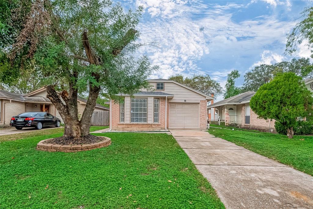
<svg viewBox="0 0 313 209">
<path fill-rule="evenodd" d="M 23 127 L 43 127 L 56 126 L 60 127 L 61 120 L 47 112 L 24 112 L 11 118 L 10 126 L 21 130 Z"/>
</svg>

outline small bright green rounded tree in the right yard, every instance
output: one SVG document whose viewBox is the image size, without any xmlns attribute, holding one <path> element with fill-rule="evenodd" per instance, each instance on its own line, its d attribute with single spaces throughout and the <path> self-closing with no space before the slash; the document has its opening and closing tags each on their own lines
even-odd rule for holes
<svg viewBox="0 0 313 209">
<path fill-rule="evenodd" d="M 289 138 L 297 119 L 307 117 L 312 111 L 313 98 L 300 76 L 283 73 L 259 88 L 250 100 L 251 109 L 259 118 L 275 119 L 281 123 Z"/>
</svg>

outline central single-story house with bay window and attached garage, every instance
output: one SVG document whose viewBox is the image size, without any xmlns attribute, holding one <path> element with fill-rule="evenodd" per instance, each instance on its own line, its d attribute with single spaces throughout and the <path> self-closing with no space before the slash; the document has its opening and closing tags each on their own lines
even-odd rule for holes
<svg viewBox="0 0 313 209">
<path fill-rule="evenodd" d="M 166 130 L 207 128 L 207 102 L 213 97 L 176 81 L 152 79 L 154 91 L 130 96 L 124 102 L 110 100 L 110 129 Z"/>
</svg>

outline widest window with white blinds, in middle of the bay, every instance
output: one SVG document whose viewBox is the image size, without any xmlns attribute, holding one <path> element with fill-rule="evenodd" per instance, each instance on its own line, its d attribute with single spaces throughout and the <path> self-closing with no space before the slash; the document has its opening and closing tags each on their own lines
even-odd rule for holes
<svg viewBox="0 0 313 209">
<path fill-rule="evenodd" d="M 131 99 L 131 123 L 147 123 L 147 99 Z"/>
</svg>

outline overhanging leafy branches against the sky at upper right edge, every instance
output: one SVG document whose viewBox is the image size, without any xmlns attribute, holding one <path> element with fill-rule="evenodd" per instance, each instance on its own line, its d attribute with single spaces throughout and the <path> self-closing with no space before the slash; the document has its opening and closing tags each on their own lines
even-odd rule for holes
<svg viewBox="0 0 313 209">
<path fill-rule="evenodd" d="M 296 50 L 298 44 L 301 44 L 304 40 L 308 41 L 308 48 L 313 47 L 313 7 L 307 7 L 301 13 L 304 18 L 302 21 L 295 25 L 295 28 L 287 35 L 286 53 L 292 55 Z M 313 53 L 313 50 L 311 50 Z M 313 55 L 311 55 L 313 57 Z"/>
</svg>

